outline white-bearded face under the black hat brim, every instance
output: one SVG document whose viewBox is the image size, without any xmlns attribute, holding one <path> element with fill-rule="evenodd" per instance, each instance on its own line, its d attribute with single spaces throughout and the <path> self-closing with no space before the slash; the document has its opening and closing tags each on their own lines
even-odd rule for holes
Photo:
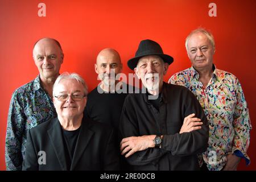
<svg viewBox="0 0 256 182">
<path fill-rule="evenodd" d="M 162 87 L 167 69 L 168 63 L 164 63 L 159 56 L 151 55 L 139 59 L 134 72 L 148 90 L 155 91 Z"/>
</svg>

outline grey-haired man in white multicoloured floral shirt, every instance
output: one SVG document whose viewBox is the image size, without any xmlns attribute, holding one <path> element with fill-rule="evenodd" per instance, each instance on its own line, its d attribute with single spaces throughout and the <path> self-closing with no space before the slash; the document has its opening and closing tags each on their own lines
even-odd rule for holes
<svg viewBox="0 0 256 182">
<path fill-rule="evenodd" d="M 192 67 L 175 73 L 169 83 L 189 88 L 207 115 L 209 147 L 199 155 L 201 169 L 236 170 L 241 158 L 249 164 L 251 123 L 240 82 L 213 64 L 215 45 L 210 32 L 192 31 L 185 47 Z"/>
</svg>

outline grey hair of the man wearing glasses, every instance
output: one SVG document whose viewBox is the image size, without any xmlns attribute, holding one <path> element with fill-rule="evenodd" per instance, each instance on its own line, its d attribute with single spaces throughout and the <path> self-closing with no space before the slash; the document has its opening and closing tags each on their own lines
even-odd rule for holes
<svg viewBox="0 0 256 182">
<path fill-rule="evenodd" d="M 64 80 L 64 79 L 73 79 L 73 80 L 76 80 L 77 82 L 80 82 L 82 84 L 82 86 L 84 86 L 84 95 L 87 96 L 88 94 L 88 87 L 84 81 L 84 79 L 78 75 L 77 73 L 71 73 L 69 74 L 68 72 L 64 72 L 62 73 L 60 76 L 57 77 L 54 85 L 53 85 L 53 96 L 55 96 L 54 92 L 55 92 L 55 88 L 59 85 L 60 81 L 61 80 Z"/>
</svg>

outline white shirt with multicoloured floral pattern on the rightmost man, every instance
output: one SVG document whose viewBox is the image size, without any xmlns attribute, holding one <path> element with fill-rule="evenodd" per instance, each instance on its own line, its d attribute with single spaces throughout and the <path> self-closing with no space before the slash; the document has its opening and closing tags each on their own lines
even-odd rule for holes
<svg viewBox="0 0 256 182">
<path fill-rule="evenodd" d="M 221 170 L 228 154 L 236 154 L 250 163 L 246 154 L 250 142 L 251 123 L 245 96 L 236 76 L 216 69 L 207 88 L 193 68 L 175 73 L 171 84 L 186 86 L 199 100 L 209 121 L 209 147 L 203 159 L 209 170 Z M 200 158 L 199 158 L 200 159 Z M 201 156 L 201 164 L 203 164 Z"/>
</svg>

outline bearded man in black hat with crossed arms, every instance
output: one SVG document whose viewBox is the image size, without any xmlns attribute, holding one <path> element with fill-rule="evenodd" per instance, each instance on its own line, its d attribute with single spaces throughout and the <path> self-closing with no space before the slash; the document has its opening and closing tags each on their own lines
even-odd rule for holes
<svg viewBox="0 0 256 182">
<path fill-rule="evenodd" d="M 187 88 L 163 81 L 173 61 L 152 40 L 142 40 L 128 61 L 146 87 L 146 93 L 126 97 L 119 124 L 120 149 L 130 169 L 199 169 L 197 154 L 208 146 L 208 121 Z"/>
</svg>

